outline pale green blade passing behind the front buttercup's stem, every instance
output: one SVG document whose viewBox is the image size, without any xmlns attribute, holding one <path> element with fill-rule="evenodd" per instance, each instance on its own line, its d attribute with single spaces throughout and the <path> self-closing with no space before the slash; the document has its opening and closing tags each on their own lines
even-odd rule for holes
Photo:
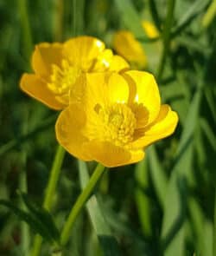
<svg viewBox="0 0 216 256">
<path fill-rule="evenodd" d="M 81 187 L 86 187 L 86 183 L 89 181 L 89 174 L 87 171 L 86 163 L 84 161 L 79 161 L 79 179 Z M 101 248 L 103 249 L 104 255 L 120 255 L 118 242 L 111 234 L 110 226 L 108 226 L 105 220 L 95 195 L 92 195 L 92 197 L 87 201 L 86 207 L 92 221 L 92 226 L 97 233 L 98 241 Z"/>
</svg>

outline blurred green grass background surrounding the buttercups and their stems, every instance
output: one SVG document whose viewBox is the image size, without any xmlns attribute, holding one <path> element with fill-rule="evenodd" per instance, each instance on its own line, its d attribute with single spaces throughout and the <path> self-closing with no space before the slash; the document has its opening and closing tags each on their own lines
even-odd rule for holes
<svg viewBox="0 0 216 256">
<path fill-rule="evenodd" d="M 40 206 L 57 148 L 58 113 L 19 89 L 35 43 L 90 35 L 112 48 L 113 34 L 130 30 L 162 102 L 180 117 L 175 134 L 148 148 L 142 162 L 103 176 L 65 255 L 216 255 L 215 11 L 215 0 L 0 0 L 1 200 L 25 208 L 19 190 Z M 155 23 L 157 40 L 144 35 L 143 19 Z M 52 209 L 59 229 L 80 189 L 77 161 L 66 154 Z M 33 237 L 0 205 L 1 256 L 29 255 L 23 250 Z M 41 255 L 51 255 L 46 240 Z"/>
</svg>

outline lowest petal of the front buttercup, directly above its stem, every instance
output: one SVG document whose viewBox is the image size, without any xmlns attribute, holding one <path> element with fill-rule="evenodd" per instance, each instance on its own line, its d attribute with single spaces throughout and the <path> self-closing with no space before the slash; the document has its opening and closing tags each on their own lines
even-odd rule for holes
<svg viewBox="0 0 216 256">
<path fill-rule="evenodd" d="M 115 146 L 108 141 L 90 141 L 86 143 L 86 151 L 91 153 L 93 160 L 102 163 L 105 167 L 118 167 L 141 161 L 144 153 L 141 150 L 134 152 Z"/>
</svg>

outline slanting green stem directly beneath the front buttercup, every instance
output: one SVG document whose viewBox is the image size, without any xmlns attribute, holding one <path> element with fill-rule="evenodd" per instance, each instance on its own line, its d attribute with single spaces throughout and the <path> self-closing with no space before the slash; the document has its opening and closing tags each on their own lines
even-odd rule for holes
<svg viewBox="0 0 216 256">
<path fill-rule="evenodd" d="M 96 186 L 99 178 L 104 173 L 105 167 L 98 163 L 98 166 L 95 168 L 90 180 L 88 181 L 86 187 L 83 189 L 82 193 L 79 194 L 78 199 L 76 200 L 71 213 L 69 214 L 66 223 L 63 227 L 63 230 L 60 234 L 60 245 L 66 246 L 67 241 L 70 238 L 71 230 L 73 228 L 73 223 L 76 220 L 78 214 L 80 213 L 81 209 L 84 207 L 86 200 L 89 198 L 92 190 Z"/>
</svg>

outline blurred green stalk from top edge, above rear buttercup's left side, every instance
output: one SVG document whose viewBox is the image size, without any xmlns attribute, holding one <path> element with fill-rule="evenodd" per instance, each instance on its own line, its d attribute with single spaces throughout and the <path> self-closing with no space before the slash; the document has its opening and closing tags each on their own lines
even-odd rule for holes
<svg viewBox="0 0 216 256">
<path fill-rule="evenodd" d="M 30 23 L 29 23 L 29 14 L 27 9 L 27 0 L 19 0 L 18 7 L 19 7 L 19 14 L 20 14 L 20 21 L 22 26 L 22 39 L 23 39 L 23 47 L 26 59 L 29 59 L 31 55 L 31 51 L 33 49 L 32 43 L 32 34 L 30 30 Z"/>
</svg>

